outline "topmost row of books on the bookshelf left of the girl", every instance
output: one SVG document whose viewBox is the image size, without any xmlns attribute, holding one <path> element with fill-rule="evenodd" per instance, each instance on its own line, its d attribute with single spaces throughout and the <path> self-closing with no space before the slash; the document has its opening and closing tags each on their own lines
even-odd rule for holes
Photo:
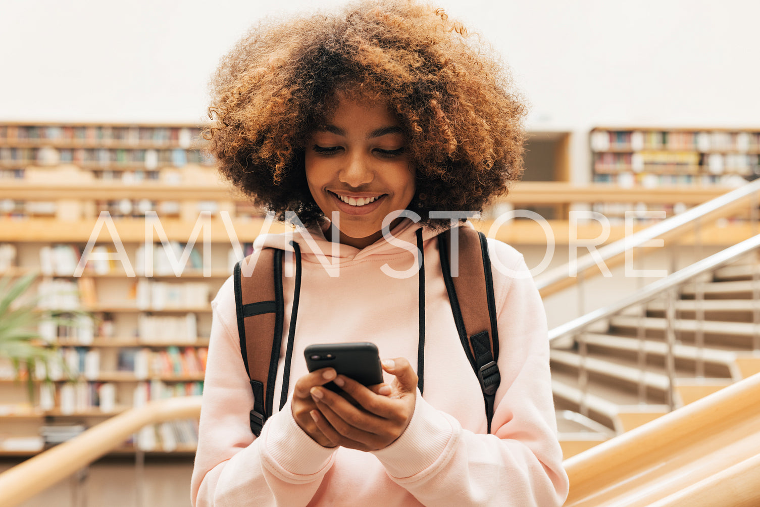
<svg viewBox="0 0 760 507">
<path fill-rule="evenodd" d="M 0 125 L 0 142 L 116 141 L 126 144 L 173 144 L 190 147 L 202 141 L 198 128 L 112 125 Z"/>
</svg>

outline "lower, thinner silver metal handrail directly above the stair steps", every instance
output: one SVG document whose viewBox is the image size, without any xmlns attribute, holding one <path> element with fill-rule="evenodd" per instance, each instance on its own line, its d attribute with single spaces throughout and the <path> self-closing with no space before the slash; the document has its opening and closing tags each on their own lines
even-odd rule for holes
<svg viewBox="0 0 760 507">
<path fill-rule="evenodd" d="M 758 182 L 760 182 L 760 180 L 758 180 Z M 670 274 L 665 278 L 657 280 L 647 285 L 646 287 L 637 290 L 630 296 L 620 299 L 616 303 L 594 310 L 593 312 L 589 312 L 586 315 L 582 315 L 581 317 L 575 318 L 570 322 L 566 322 L 563 325 L 559 325 L 556 328 L 551 329 L 549 331 L 549 341 L 556 341 L 559 340 L 559 338 L 566 336 L 567 334 L 581 331 L 584 328 L 587 328 L 587 326 L 594 324 L 595 322 L 599 322 L 604 318 L 610 318 L 613 315 L 616 315 L 616 313 L 621 312 L 623 309 L 628 308 L 629 306 L 648 303 L 651 301 L 651 299 L 657 298 L 657 296 L 660 296 L 663 292 L 673 289 L 680 284 L 684 284 L 699 274 L 713 271 L 714 269 L 720 268 L 722 265 L 726 265 L 731 261 L 735 261 L 737 258 L 746 255 L 748 252 L 751 252 L 753 249 L 756 249 L 758 247 L 760 247 L 760 234 L 752 236 L 749 239 L 745 239 L 743 242 L 737 243 L 734 246 L 730 246 L 725 250 L 709 256 L 708 258 L 697 261 L 694 264 L 676 271 L 675 273 Z"/>
</svg>

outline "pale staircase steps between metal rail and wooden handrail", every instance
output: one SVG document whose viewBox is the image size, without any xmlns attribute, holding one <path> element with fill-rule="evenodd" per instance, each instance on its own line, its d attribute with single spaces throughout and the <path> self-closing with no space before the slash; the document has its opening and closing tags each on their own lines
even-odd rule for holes
<svg viewBox="0 0 760 507">
<path fill-rule="evenodd" d="M 565 458 L 760 372 L 757 259 L 745 255 L 676 287 L 670 360 L 667 292 L 585 327 L 571 347 L 552 348 Z"/>
</svg>

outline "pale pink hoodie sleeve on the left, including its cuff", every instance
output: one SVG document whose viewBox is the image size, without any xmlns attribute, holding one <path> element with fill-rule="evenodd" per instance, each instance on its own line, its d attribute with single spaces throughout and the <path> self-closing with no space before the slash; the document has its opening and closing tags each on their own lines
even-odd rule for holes
<svg viewBox="0 0 760 507">
<path fill-rule="evenodd" d="M 231 279 L 211 307 L 192 505 L 307 505 L 334 461 L 334 450 L 302 431 L 290 403 L 270 417 L 258 439 L 253 436 L 245 408 L 253 406 L 253 394 L 237 332 L 230 331 L 236 330 Z"/>
</svg>

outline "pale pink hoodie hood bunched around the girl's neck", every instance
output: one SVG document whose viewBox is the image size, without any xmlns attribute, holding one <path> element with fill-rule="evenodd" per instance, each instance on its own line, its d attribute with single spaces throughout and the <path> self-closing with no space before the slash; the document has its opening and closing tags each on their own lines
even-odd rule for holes
<svg viewBox="0 0 760 507">
<path fill-rule="evenodd" d="M 298 228 L 293 232 L 282 234 L 263 234 L 256 238 L 255 249 L 275 248 L 293 252 L 293 246 L 290 245 L 290 241 L 293 240 L 298 243 L 305 261 L 317 261 L 317 256 L 324 256 L 323 260 L 327 258 L 331 263 L 342 264 L 359 261 L 369 256 L 399 255 L 402 252 L 410 252 L 410 249 L 416 248 L 416 232 L 420 228 L 423 230 L 423 242 L 439 234 L 428 227 L 421 226 L 420 223 L 404 218 L 397 227 L 391 230 L 392 238 L 378 239 L 372 245 L 359 250 L 353 246 L 333 243 L 325 239 L 325 230 L 328 230 L 330 226 L 331 223 L 326 221 L 321 228 Z M 472 225 L 467 222 L 464 227 L 472 227 Z"/>
</svg>

